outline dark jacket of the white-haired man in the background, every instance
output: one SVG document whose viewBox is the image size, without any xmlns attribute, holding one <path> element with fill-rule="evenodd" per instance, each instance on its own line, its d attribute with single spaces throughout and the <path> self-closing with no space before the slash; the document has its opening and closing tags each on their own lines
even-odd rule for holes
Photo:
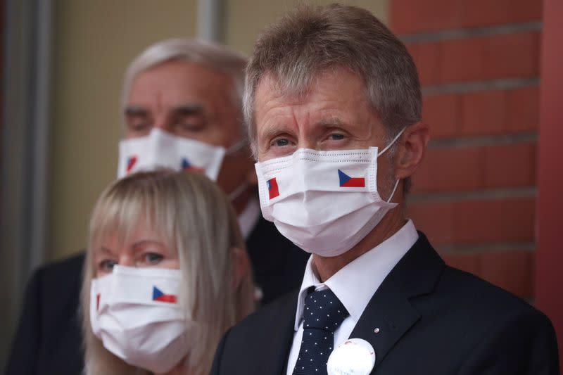
<svg viewBox="0 0 563 375">
<path fill-rule="evenodd" d="M 246 241 L 262 303 L 301 285 L 308 254 L 262 217 Z M 6 375 L 74 375 L 84 367 L 78 306 L 84 254 L 34 272 Z"/>
</svg>

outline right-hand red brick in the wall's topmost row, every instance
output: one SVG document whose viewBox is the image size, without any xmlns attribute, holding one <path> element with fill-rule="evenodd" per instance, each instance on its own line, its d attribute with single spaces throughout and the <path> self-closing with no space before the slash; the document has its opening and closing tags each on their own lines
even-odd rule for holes
<svg viewBox="0 0 563 375">
<path fill-rule="evenodd" d="M 463 0 L 460 27 L 524 23 L 542 19 L 538 0 Z"/>
</svg>

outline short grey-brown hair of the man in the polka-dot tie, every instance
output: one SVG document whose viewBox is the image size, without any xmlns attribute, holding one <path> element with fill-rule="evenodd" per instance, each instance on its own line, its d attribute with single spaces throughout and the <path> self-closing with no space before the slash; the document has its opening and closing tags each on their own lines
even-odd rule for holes
<svg viewBox="0 0 563 375">
<path fill-rule="evenodd" d="M 389 140 L 421 119 L 417 68 L 383 23 L 354 6 L 299 6 L 260 34 L 246 68 L 243 110 L 255 156 L 255 93 L 262 77 L 272 75 L 282 93 L 299 96 L 320 73 L 340 67 L 365 82 L 369 106 Z"/>
</svg>

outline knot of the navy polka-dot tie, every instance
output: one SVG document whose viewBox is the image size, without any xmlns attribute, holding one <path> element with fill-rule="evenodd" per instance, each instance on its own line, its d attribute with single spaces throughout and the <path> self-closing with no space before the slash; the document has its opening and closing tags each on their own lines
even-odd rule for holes
<svg viewBox="0 0 563 375">
<path fill-rule="evenodd" d="M 348 315 L 346 307 L 330 289 L 315 291 L 305 298 L 303 328 L 334 332 Z"/>
</svg>

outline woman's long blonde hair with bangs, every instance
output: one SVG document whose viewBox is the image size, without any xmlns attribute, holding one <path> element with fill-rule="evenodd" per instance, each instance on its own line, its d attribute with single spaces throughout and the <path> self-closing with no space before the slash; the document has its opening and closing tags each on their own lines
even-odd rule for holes
<svg viewBox="0 0 563 375">
<path fill-rule="evenodd" d="M 203 329 L 186 362 L 191 374 L 208 374 L 222 334 L 254 309 L 250 270 L 234 286 L 232 248 L 245 250 L 236 214 L 222 191 L 203 174 L 158 170 L 111 184 L 91 215 L 81 293 L 85 371 L 91 374 L 142 374 L 103 348 L 89 319 L 93 250 L 108 236 L 125 243 L 139 220 L 176 249 L 182 285 L 179 303 Z"/>
</svg>

